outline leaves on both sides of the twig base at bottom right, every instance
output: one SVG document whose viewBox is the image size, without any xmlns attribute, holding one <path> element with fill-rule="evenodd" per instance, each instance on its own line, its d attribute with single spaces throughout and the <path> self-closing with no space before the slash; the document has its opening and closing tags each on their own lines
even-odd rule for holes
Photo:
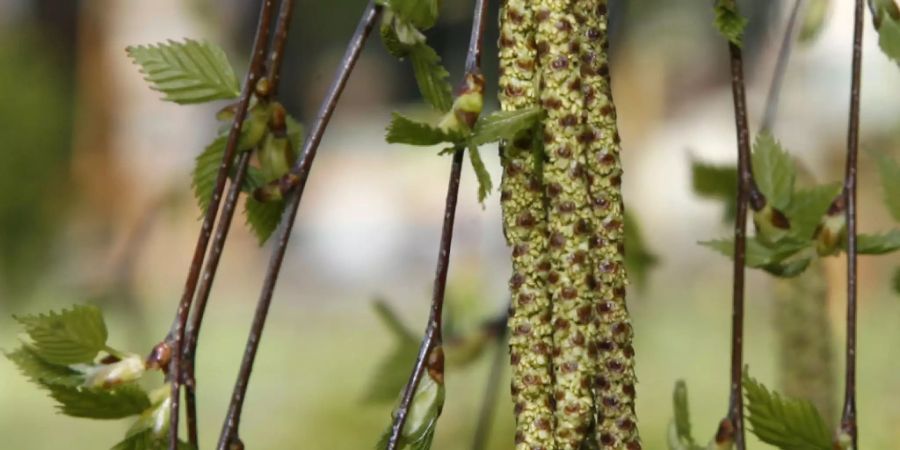
<svg viewBox="0 0 900 450">
<path fill-rule="evenodd" d="M 782 396 L 750 377 L 743 378 L 744 406 L 750 431 L 759 440 L 782 450 L 832 450 L 831 434 L 816 407 L 807 400 Z M 687 385 L 679 380 L 673 394 L 675 416 L 669 424 L 669 450 L 717 450 L 730 448 L 730 443 L 708 446 L 696 444 L 691 435 Z M 842 447 L 843 448 L 843 447 Z"/>
</svg>

